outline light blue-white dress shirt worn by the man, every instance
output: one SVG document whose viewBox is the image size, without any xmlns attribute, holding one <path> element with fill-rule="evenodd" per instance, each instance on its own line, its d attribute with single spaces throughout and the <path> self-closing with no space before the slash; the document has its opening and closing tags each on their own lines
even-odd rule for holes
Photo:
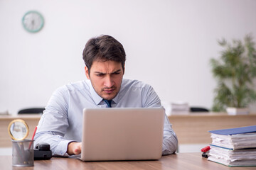
<svg viewBox="0 0 256 170">
<path fill-rule="evenodd" d="M 154 89 L 142 81 L 123 79 L 119 93 L 112 100 L 112 108 L 159 108 L 161 101 Z M 53 155 L 67 156 L 68 143 L 82 141 L 83 108 L 107 108 L 95 92 L 90 80 L 78 81 L 58 88 L 50 98 L 38 123 L 34 137 L 50 144 Z M 143 120 L 142 120 L 143 121 Z M 178 140 L 165 118 L 162 154 L 176 152 Z"/>
</svg>

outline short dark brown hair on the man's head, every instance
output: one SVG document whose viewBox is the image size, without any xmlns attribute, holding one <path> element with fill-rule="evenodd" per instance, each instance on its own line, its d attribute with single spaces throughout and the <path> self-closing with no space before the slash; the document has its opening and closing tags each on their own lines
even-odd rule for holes
<svg viewBox="0 0 256 170">
<path fill-rule="evenodd" d="M 92 67 L 92 62 L 97 61 L 114 61 L 122 64 L 124 70 L 124 62 L 126 60 L 124 47 L 116 39 L 110 35 L 101 35 L 96 38 L 91 38 L 85 45 L 82 52 L 82 59 L 85 61 L 86 67 Z"/>
</svg>

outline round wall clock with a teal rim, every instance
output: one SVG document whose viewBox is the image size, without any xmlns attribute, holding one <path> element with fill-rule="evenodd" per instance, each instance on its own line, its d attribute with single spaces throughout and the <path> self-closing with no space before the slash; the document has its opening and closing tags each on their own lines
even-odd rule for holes
<svg viewBox="0 0 256 170">
<path fill-rule="evenodd" d="M 37 11 L 28 11 L 22 18 L 23 27 L 31 33 L 41 30 L 43 22 L 43 16 Z"/>
</svg>

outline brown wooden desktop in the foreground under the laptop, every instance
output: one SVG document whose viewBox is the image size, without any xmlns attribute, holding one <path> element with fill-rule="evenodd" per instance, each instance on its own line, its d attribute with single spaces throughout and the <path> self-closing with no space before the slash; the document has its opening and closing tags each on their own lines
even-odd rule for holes
<svg viewBox="0 0 256 170">
<path fill-rule="evenodd" d="M 0 156 L 1 169 L 232 169 L 232 170 L 251 170 L 256 167 L 228 167 L 215 162 L 209 162 L 206 158 L 201 157 L 201 153 L 180 153 L 171 154 L 161 157 L 157 161 L 121 161 L 121 162 L 82 162 L 80 159 L 73 158 L 57 158 L 53 157 L 50 160 L 35 161 L 31 167 L 13 167 L 11 166 L 11 156 Z"/>
</svg>

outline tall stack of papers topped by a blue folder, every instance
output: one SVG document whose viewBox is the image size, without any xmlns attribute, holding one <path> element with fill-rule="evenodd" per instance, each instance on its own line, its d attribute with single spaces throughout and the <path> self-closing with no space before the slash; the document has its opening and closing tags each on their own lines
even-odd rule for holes
<svg viewBox="0 0 256 170">
<path fill-rule="evenodd" d="M 226 166 L 256 166 L 256 125 L 212 130 L 208 160 Z"/>
</svg>

